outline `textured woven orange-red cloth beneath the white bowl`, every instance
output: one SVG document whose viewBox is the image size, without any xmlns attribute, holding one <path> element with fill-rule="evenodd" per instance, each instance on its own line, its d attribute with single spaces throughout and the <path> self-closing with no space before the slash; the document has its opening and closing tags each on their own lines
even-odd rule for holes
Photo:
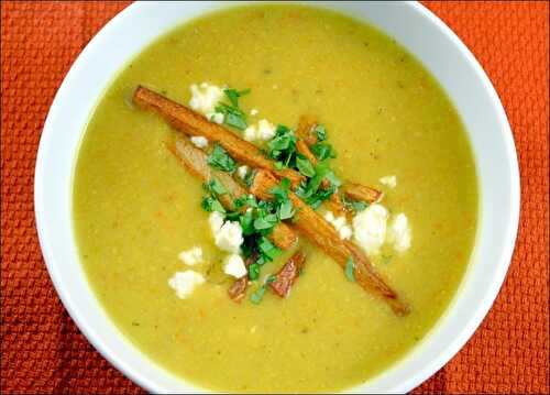
<svg viewBox="0 0 550 395">
<path fill-rule="evenodd" d="M 462 351 L 415 393 L 549 392 L 549 4 L 426 3 L 498 91 L 521 172 L 519 239 L 506 283 Z M 79 333 L 47 275 L 33 176 L 47 110 L 69 66 L 127 2 L 1 4 L 1 392 L 141 393 Z"/>
</svg>

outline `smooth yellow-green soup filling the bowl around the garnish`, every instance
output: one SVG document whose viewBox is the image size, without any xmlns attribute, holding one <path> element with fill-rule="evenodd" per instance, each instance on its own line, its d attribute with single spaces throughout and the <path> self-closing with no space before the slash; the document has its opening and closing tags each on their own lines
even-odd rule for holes
<svg viewBox="0 0 550 395">
<path fill-rule="evenodd" d="M 338 152 L 341 178 L 381 188 L 408 217 L 413 242 L 372 262 L 410 305 L 397 317 L 304 243 L 289 297 L 235 304 L 230 278 L 207 277 L 186 299 L 168 279 L 200 245 L 217 272 L 201 183 L 165 143 L 178 132 L 131 105 L 143 84 L 188 103 L 209 81 L 251 92 L 253 121 L 296 127 L 315 114 Z M 397 185 L 381 184 L 395 175 Z M 143 353 L 199 386 L 231 392 L 331 392 L 402 359 L 436 325 L 464 275 L 477 218 L 475 165 L 453 105 L 394 40 L 349 18 L 296 6 L 234 8 L 164 35 L 129 64 L 98 103 L 74 180 L 75 232 L 97 297 Z M 277 267 L 280 263 L 270 264 Z M 218 271 L 220 272 L 220 271 Z"/>
</svg>

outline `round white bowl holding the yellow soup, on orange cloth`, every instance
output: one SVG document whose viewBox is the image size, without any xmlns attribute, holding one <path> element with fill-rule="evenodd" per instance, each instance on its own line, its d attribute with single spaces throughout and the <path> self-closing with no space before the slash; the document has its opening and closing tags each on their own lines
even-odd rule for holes
<svg viewBox="0 0 550 395">
<path fill-rule="evenodd" d="M 446 364 L 491 308 L 514 250 L 519 173 L 509 124 L 474 56 L 430 11 L 413 2 L 317 2 L 364 20 L 395 37 L 441 83 L 465 124 L 481 188 L 472 262 L 451 307 L 402 361 L 352 392 L 408 392 Z M 110 21 L 65 77 L 42 133 L 34 185 L 36 226 L 55 288 L 78 328 L 117 369 L 155 393 L 204 392 L 157 366 L 109 320 L 86 279 L 75 244 L 73 168 L 90 112 L 113 75 L 176 24 L 228 2 L 134 3 Z"/>
</svg>

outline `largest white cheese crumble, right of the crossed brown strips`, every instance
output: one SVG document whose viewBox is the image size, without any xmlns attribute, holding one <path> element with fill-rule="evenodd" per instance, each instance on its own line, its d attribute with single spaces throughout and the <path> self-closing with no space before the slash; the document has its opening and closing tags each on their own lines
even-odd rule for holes
<svg viewBox="0 0 550 395">
<path fill-rule="evenodd" d="M 386 239 L 387 210 L 375 204 L 353 218 L 353 235 L 356 243 L 367 253 L 377 254 Z"/>
</svg>

